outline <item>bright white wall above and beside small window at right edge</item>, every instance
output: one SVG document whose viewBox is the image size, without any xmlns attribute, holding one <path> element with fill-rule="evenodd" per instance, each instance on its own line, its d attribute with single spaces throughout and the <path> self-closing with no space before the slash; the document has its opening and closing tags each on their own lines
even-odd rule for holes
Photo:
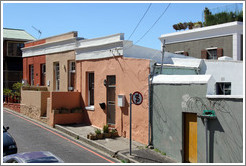
<svg viewBox="0 0 246 166">
<path fill-rule="evenodd" d="M 231 95 L 243 95 L 242 61 L 204 60 L 200 74 L 212 75 L 216 82 L 231 82 Z"/>
</svg>

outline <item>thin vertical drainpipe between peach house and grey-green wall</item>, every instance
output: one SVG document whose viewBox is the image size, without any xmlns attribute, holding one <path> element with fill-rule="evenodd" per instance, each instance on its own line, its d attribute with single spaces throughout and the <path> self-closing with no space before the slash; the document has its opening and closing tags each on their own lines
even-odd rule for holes
<svg viewBox="0 0 246 166">
<path fill-rule="evenodd" d="M 152 146 L 152 137 L 151 137 L 151 128 L 152 128 L 152 121 L 151 121 L 151 111 L 152 111 L 152 81 L 153 81 L 153 76 L 155 74 L 155 67 L 156 67 L 156 63 L 153 65 L 153 71 L 150 72 L 149 77 L 148 77 L 148 82 L 149 82 L 149 134 L 148 134 L 148 146 Z"/>
</svg>

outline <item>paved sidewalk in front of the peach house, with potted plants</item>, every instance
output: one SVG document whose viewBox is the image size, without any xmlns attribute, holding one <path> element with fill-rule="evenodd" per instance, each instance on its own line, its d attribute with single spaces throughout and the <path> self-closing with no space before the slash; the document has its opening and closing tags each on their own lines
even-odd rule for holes
<svg viewBox="0 0 246 166">
<path fill-rule="evenodd" d="M 129 154 L 129 139 L 123 137 L 106 138 L 100 140 L 87 139 L 87 134 L 94 133 L 95 128 L 82 124 L 55 125 L 60 130 L 70 136 L 97 148 L 119 160 L 131 163 L 175 163 L 174 160 L 148 149 L 145 145 L 132 141 L 132 155 Z"/>
</svg>

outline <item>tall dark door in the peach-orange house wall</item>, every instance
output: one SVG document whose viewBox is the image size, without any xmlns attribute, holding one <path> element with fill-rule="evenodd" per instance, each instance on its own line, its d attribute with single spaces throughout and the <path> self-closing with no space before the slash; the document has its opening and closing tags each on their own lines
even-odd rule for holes
<svg viewBox="0 0 246 166">
<path fill-rule="evenodd" d="M 115 76 L 107 76 L 107 123 L 115 124 Z"/>
</svg>

